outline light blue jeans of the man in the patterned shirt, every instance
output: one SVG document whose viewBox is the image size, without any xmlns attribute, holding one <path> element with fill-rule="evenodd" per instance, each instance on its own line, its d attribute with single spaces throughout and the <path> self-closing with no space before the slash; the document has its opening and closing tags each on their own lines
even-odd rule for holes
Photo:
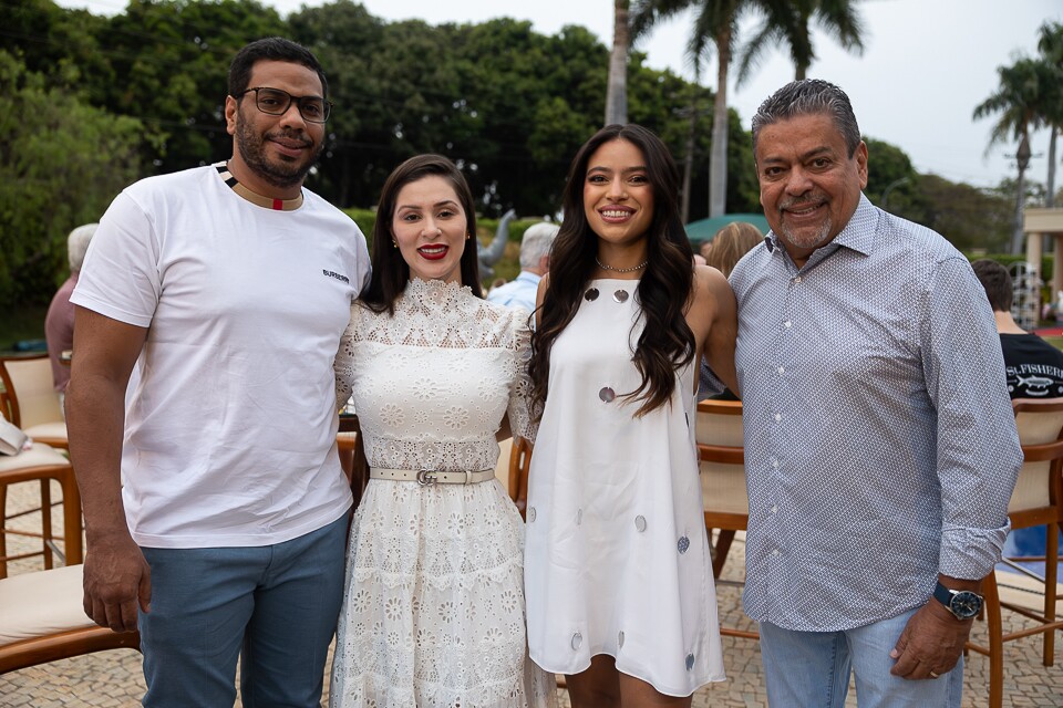
<svg viewBox="0 0 1063 708">
<path fill-rule="evenodd" d="M 856 676 L 860 708 L 960 708 L 963 657 L 937 679 L 889 673 L 889 653 L 915 610 L 844 632 L 792 632 L 761 623 L 767 702 L 778 708 L 842 708 Z"/>
</svg>

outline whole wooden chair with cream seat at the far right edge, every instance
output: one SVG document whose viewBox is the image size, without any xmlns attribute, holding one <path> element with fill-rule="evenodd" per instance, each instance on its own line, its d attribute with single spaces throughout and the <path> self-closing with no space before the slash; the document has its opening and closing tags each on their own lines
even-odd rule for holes
<svg viewBox="0 0 1063 708">
<path fill-rule="evenodd" d="M 1008 506 L 1008 517 L 1013 529 L 1045 527 L 1045 573 L 1039 577 L 1029 571 L 995 572 L 983 583 L 989 645 L 969 642 L 967 646 L 989 657 L 990 708 L 1001 708 L 1003 704 L 1003 644 L 1041 634 L 1042 663 L 1052 666 L 1055 631 L 1063 628 L 1063 621 L 1057 618 L 1059 535 L 1063 522 L 1063 398 L 1016 399 L 1012 406 L 1024 460 Z M 1003 634 L 1002 607 L 1033 620 L 1035 625 Z"/>
</svg>

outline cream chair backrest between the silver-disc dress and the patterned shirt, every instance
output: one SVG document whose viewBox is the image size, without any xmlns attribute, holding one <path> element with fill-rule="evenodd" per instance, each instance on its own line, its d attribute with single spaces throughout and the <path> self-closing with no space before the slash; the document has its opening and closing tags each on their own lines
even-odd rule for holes
<svg viewBox="0 0 1063 708">
<path fill-rule="evenodd" d="M 701 493 L 706 517 L 712 513 L 749 517 L 742 403 L 711 399 L 699 403 L 694 439 L 701 458 Z"/>
</svg>

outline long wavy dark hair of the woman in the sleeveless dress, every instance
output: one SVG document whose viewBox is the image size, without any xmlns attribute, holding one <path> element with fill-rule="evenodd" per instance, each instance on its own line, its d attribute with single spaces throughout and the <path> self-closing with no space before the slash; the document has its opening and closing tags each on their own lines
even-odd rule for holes
<svg viewBox="0 0 1063 708">
<path fill-rule="evenodd" d="M 535 402 L 541 406 L 549 384 L 550 348 L 576 316 L 584 287 L 595 271 L 598 237 L 584 212 L 584 183 L 590 157 L 609 140 L 627 140 L 642 150 L 653 188 L 653 219 L 647 231 L 649 263 L 636 291 L 644 326 L 632 361 L 642 383 L 625 394 L 642 402 L 636 412 L 636 416 L 642 416 L 671 398 L 675 369 L 694 357 L 695 343 L 684 316 L 694 271 L 693 251 L 679 216 L 679 170 L 661 139 L 640 125 L 607 125 L 579 148 L 572 160 L 565 186 L 565 220 L 550 252 L 550 284 L 532 339 L 528 371 Z"/>
</svg>

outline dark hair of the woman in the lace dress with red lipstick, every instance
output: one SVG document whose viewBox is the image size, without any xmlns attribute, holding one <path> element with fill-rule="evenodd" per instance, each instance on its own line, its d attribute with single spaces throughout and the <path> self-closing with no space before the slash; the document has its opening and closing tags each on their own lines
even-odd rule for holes
<svg viewBox="0 0 1063 708">
<path fill-rule="evenodd" d="M 465 251 L 462 253 L 462 284 L 468 285 L 477 298 L 484 296 L 476 257 L 476 209 L 468 183 L 454 163 L 442 155 L 416 155 L 395 167 L 380 194 L 376 223 L 373 225 L 373 274 L 369 288 L 362 293 L 362 302 L 373 312 L 386 310 L 389 314 L 394 314 L 395 301 L 410 282 L 410 266 L 392 243 L 394 235 L 391 232 L 391 221 L 395 216 L 395 200 L 403 187 L 430 176 L 440 176 L 450 181 L 462 204 L 468 233 L 473 235 L 465 241 Z"/>
</svg>

